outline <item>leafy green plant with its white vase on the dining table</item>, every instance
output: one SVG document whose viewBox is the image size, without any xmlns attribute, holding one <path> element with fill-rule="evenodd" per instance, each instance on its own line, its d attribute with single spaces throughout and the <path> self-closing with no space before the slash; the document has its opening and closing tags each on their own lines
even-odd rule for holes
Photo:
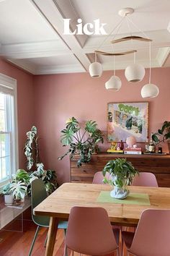
<svg viewBox="0 0 170 256">
<path fill-rule="evenodd" d="M 111 179 L 105 177 L 107 172 L 111 176 Z M 138 171 L 125 158 L 110 160 L 103 169 L 104 183 L 114 186 L 114 189 L 110 192 L 110 196 L 117 199 L 128 197 L 128 184 L 131 184 L 135 174 L 138 174 Z"/>
</svg>

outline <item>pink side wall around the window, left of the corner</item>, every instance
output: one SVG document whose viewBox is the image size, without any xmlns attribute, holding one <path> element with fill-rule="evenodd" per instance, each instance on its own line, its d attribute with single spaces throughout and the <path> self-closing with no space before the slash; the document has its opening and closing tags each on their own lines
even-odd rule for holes
<svg viewBox="0 0 170 256">
<path fill-rule="evenodd" d="M 19 168 L 25 168 L 23 153 L 26 132 L 34 123 L 32 75 L 0 59 L 0 72 L 17 80 L 17 107 L 19 132 Z"/>
</svg>

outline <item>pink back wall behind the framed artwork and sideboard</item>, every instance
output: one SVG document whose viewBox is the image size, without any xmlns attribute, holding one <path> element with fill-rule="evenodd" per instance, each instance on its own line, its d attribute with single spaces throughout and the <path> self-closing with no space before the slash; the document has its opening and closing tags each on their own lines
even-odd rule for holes
<svg viewBox="0 0 170 256">
<path fill-rule="evenodd" d="M 170 68 L 152 71 L 152 82 L 159 86 L 160 94 L 157 98 L 146 100 L 149 101 L 149 134 L 156 132 L 166 119 L 170 119 L 169 73 Z M 66 152 L 60 143 L 60 131 L 68 117 L 75 116 L 79 121 L 95 120 L 99 129 L 106 131 L 108 102 L 143 101 L 140 90 L 148 83 L 148 70 L 143 82 L 136 84 L 127 82 L 124 72 L 118 71 L 122 89 L 116 93 L 104 88 L 111 75 L 111 72 L 104 72 L 100 78 L 91 78 L 88 73 L 34 77 L 35 124 L 42 138 L 40 154 L 45 166 L 57 171 L 59 182 L 69 179 L 68 157 L 58 161 L 58 156 Z M 101 148 L 106 150 L 109 144 L 104 142 Z M 166 147 L 164 149 L 167 150 Z"/>
</svg>

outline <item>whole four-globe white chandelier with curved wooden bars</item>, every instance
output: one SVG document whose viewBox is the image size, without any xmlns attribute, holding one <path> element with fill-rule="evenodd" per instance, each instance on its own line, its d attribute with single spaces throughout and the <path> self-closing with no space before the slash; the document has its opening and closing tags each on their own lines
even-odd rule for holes
<svg viewBox="0 0 170 256">
<path fill-rule="evenodd" d="M 156 85 L 151 84 L 151 41 L 152 40 L 150 38 L 148 38 L 146 33 L 143 33 L 143 31 L 141 31 L 140 28 L 138 28 L 138 26 L 135 25 L 132 20 L 130 20 L 130 18 L 128 16 L 130 14 L 133 14 L 133 12 L 134 12 L 134 9 L 129 8 L 129 7 L 124 8 L 124 9 L 120 9 L 119 15 L 122 17 L 122 20 L 120 20 L 120 22 L 109 33 L 109 35 L 107 35 L 107 38 L 104 38 L 102 43 L 99 44 L 97 50 L 94 51 L 95 61 L 94 61 L 94 63 L 90 64 L 89 73 L 90 73 L 91 77 L 100 77 L 102 75 L 102 64 L 97 62 L 97 54 L 104 55 L 104 56 L 114 56 L 114 74 L 105 83 L 105 87 L 106 87 L 107 90 L 115 90 L 115 91 L 120 90 L 122 82 L 120 80 L 120 77 L 115 76 L 115 56 L 123 56 L 123 55 L 126 55 L 126 54 L 134 54 L 134 63 L 131 64 L 130 66 L 128 66 L 125 69 L 125 77 L 129 82 L 142 81 L 146 72 L 145 72 L 145 68 L 141 64 L 136 63 L 136 58 L 135 58 L 135 54 L 137 52 L 136 50 L 115 53 L 115 51 L 113 51 L 113 47 L 112 47 L 112 52 L 99 51 L 99 48 L 102 48 L 104 42 L 109 38 L 109 36 L 112 36 L 113 33 L 115 33 L 115 35 L 111 40 L 112 44 L 121 43 L 121 42 L 125 42 L 125 41 L 128 41 L 128 40 L 130 40 L 130 43 L 132 43 L 132 40 L 140 40 L 140 41 L 143 41 L 143 42 L 149 42 L 150 43 L 150 45 L 149 45 L 149 63 L 150 63 L 149 83 L 147 85 L 143 86 L 143 88 L 141 90 L 141 95 L 142 95 L 143 98 L 153 98 L 153 97 L 156 97 L 158 95 L 159 90 L 158 90 L 158 87 Z M 117 36 L 117 33 L 120 31 L 120 28 L 122 27 L 124 21 L 128 25 L 128 30 L 130 30 L 130 35 L 126 36 L 124 38 L 115 39 L 116 36 Z M 131 31 L 131 26 L 133 26 L 135 28 L 135 30 L 137 28 L 138 32 L 142 33 L 144 37 L 133 35 L 132 31 Z"/>
</svg>

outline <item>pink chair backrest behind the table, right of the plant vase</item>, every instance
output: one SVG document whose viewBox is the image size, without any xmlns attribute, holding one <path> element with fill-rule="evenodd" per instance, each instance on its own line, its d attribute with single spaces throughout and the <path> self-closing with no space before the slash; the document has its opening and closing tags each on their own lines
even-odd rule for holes
<svg viewBox="0 0 170 256">
<path fill-rule="evenodd" d="M 133 186 L 158 187 L 156 176 L 151 172 L 140 172 L 133 179 Z"/>
</svg>

